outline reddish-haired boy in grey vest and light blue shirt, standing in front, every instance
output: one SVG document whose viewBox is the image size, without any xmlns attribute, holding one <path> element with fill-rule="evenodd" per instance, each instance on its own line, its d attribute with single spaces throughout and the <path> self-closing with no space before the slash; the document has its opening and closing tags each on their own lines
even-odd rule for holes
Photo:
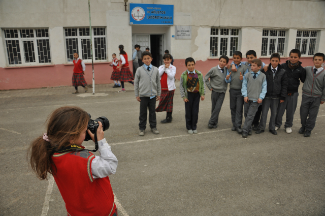
<svg viewBox="0 0 325 216">
<path fill-rule="evenodd" d="M 252 72 L 246 73 L 243 80 L 242 96 L 244 97 L 245 123 L 243 137 L 252 135 L 252 121 L 259 104 L 262 103 L 267 92 L 267 82 L 264 73 L 259 71 L 262 68 L 262 61 L 258 58 L 251 61 Z"/>
</svg>

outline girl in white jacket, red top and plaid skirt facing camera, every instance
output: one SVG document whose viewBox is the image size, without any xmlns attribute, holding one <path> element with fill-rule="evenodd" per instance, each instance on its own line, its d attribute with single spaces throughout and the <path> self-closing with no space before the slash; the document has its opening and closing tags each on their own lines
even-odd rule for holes
<svg viewBox="0 0 325 216">
<path fill-rule="evenodd" d="M 158 68 L 160 75 L 161 84 L 161 95 L 159 100 L 159 105 L 156 108 L 156 112 L 167 112 L 166 119 L 161 120 L 160 123 L 170 123 L 172 122 L 172 112 L 173 112 L 173 98 L 175 92 L 175 74 L 176 67 L 171 65 L 172 56 L 167 53 L 163 57 L 164 65 Z"/>
</svg>

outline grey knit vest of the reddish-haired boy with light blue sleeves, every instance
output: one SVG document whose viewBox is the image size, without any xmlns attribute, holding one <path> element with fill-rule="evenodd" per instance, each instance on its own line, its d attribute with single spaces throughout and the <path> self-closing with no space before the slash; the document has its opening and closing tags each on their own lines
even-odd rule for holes
<svg viewBox="0 0 325 216">
<path fill-rule="evenodd" d="M 266 79 L 264 73 L 260 72 L 258 77 L 253 78 L 252 73 L 245 74 L 247 80 L 247 97 L 251 101 L 257 101 L 262 92 L 262 84 Z"/>
</svg>

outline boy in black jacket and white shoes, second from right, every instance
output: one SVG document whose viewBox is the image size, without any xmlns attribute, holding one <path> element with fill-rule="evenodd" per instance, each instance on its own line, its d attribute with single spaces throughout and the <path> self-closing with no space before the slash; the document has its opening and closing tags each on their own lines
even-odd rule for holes
<svg viewBox="0 0 325 216">
<path fill-rule="evenodd" d="M 305 82 L 306 71 L 301 66 L 299 61 L 301 57 L 301 52 L 299 49 L 293 49 L 290 51 L 290 59 L 281 65 L 281 67 L 286 71 L 288 79 L 288 89 L 287 95 L 283 103 L 280 103 L 275 117 L 275 130 L 277 131 L 282 125 L 282 116 L 286 110 L 286 119 L 285 119 L 285 132 L 290 134 L 293 131 L 294 114 L 297 108 L 298 103 L 298 88 L 300 81 Z"/>
</svg>

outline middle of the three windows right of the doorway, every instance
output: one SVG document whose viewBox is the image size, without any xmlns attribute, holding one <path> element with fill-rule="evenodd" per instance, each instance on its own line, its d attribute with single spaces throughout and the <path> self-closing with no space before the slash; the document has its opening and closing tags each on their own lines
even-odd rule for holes
<svg viewBox="0 0 325 216">
<path fill-rule="evenodd" d="M 277 52 L 281 56 L 286 49 L 286 30 L 263 29 L 262 56 L 270 56 Z"/>
</svg>

